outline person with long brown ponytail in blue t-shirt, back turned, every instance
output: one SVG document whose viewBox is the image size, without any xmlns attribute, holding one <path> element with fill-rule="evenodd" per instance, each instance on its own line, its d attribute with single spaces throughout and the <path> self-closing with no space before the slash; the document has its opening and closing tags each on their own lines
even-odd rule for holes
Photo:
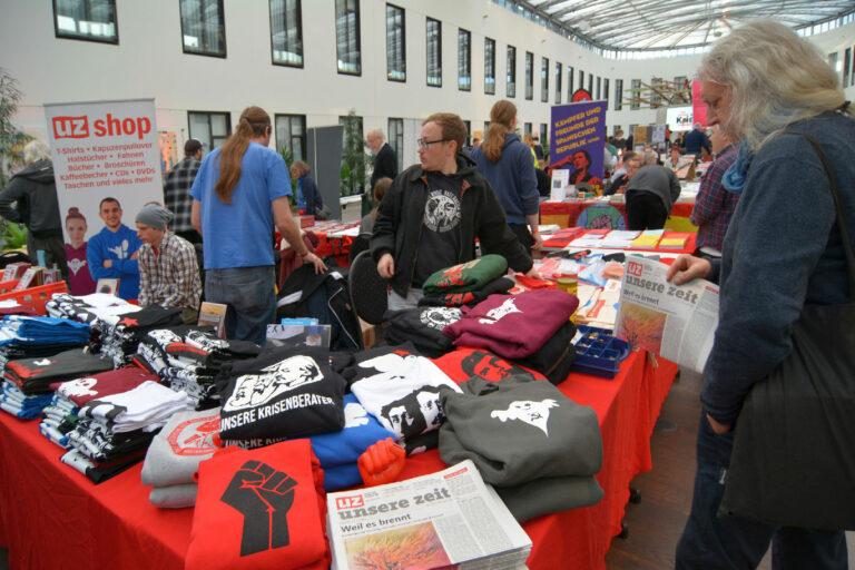
<svg viewBox="0 0 855 570">
<path fill-rule="evenodd" d="M 205 299 L 229 306 L 229 338 L 259 344 L 276 312 L 274 225 L 304 263 L 325 269 L 292 216 L 291 177 L 282 156 L 268 148 L 272 130 L 264 109 L 244 109 L 223 148 L 202 161 L 190 190 L 193 226 L 204 243 Z"/>
</svg>

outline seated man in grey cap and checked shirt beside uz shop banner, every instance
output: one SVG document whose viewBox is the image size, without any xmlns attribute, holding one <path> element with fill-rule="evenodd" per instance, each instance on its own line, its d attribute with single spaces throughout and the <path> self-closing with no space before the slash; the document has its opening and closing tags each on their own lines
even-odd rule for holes
<svg viewBox="0 0 855 570">
<path fill-rule="evenodd" d="M 171 212 L 149 204 L 137 214 L 139 248 L 139 304 L 181 308 L 185 324 L 196 324 L 202 281 L 196 248 L 166 227 Z"/>
</svg>

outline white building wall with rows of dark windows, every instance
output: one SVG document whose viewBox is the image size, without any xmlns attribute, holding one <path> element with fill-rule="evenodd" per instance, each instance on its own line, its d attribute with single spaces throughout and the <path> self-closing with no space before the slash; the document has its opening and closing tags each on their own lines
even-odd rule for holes
<svg viewBox="0 0 855 570">
<path fill-rule="evenodd" d="M 657 111 L 613 110 L 616 79 L 623 79 L 625 96 L 632 79 L 691 77 L 699 56 L 653 60 L 610 60 L 493 4 L 490 0 L 399 0 L 406 14 L 406 82 L 386 80 L 385 2 L 362 0 L 362 76 L 336 71 L 333 0 L 304 0 L 304 68 L 271 63 L 267 0 L 225 0 L 225 59 L 186 55 L 181 49 L 176 0 L 117 0 L 119 45 L 57 39 L 49 1 L 0 0 L 0 53 L 20 82 L 23 101 L 16 122 L 43 137 L 42 104 L 131 97 L 156 98 L 160 130 L 187 136 L 187 110 L 232 112 L 258 105 L 273 114 L 306 115 L 308 127 L 337 124 L 338 116 L 355 109 L 364 128 L 386 129 L 389 117 L 420 119 L 438 110 L 458 112 L 483 128 L 490 107 L 505 94 L 505 48 L 517 47 L 517 97 L 520 124 L 534 131 L 548 122 L 554 101 L 554 62 L 564 67 L 561 97 L 567 101 L 567 67 L 609 79 L 611 126 L 650 124 Z M 425 82 L 425 16 L 442 21 L 443 87 Z M 472 90 L 458 90 L 458 28 L 472 32 Z M 815 37 L 841 48 L 853 43 L 855 26 Z M 497 41 L 494 96 L 483 92 L 484 36 Z M 813 38 L 812 38 L 813 39 Z M 829 48 L 831 49 L 831 48 Z M 524 53 L 534 53 L 534 98 L 524 99 Z M 828 50 L 826 50 L 828 51 Z M 540 102 L 540 60 L 550 60 L 550 95 Z M 842 57 L 842 56 L 841 56 Z M 587 80 L 586 80 L 587 87 Z M 594 81 L 596 87 L 596 81 Z M 411 121 L 406 121 L 404 163 L 415 159 Z"/>
</svg>

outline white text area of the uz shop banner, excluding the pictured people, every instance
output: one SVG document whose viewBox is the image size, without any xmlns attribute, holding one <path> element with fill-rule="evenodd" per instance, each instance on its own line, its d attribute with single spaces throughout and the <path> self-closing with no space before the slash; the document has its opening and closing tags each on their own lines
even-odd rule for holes
<svg viewBox="0 0 855 570">
<path fill-rule="evenodd" d="M 155 100 L 50 104 L 45 115 L 66 242 L 69 209 L 86 218 L 88 240 L 104 227 L 99 204 L 107 197 L 119 202 L 121 223 L 136 232 L 140 208 L 164 202 Z"/>
</svg>

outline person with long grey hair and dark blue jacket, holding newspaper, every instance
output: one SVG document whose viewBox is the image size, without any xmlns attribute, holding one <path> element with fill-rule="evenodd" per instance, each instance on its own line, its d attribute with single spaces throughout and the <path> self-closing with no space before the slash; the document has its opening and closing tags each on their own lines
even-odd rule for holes
<svg viewBox="0 0 855 570">
<path fill-rule="evenodd" d="M 720 287 L 695 497 L 676 567 L 756 568 L 772 542 L 773 568 L 846 568 L 846 537 L 836 530 L 845 523 L 816 530 L 798 521 L 831 521 L 835 510 L 836 521 L 853 520 L 851 406 L 829 391 L 810 413 L 818 396 L 807 397 L 798 377 L 822 375 L 823 391 L 836 377 L 852 393 L 855 120 L 825 56 L 777 22 L 733 30 L 704 56 L 698 76 L 707 124 L 740 141 L 723 176 L 740 198 L 721 258 L 680 256 L 669 269 L 677 284 L 700 277 Z M 793 382 L 782 386 L 784 377 Z M 792 407 L 777 413 L 772 402 Z M 835 474 L 843 480 L 829 488 Z"/>
</svg>

